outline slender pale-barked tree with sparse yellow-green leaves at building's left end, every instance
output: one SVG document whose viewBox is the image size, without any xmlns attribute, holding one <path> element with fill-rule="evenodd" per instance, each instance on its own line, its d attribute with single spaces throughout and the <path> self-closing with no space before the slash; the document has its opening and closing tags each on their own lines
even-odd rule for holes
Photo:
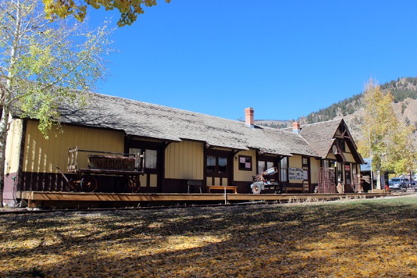
<svg viewBox="0 0 417 278">
<path fill-rule="evenodd" d="M 42 1 L 0 1 L 0 206 L 10 112 L 39 120 L 45 137 L 58 123 L 58 105 L 83 106 L 106 77 L 113 51 L 106 23 L 88 30 L 74 18 L 46 19 Z"/>
</svg>

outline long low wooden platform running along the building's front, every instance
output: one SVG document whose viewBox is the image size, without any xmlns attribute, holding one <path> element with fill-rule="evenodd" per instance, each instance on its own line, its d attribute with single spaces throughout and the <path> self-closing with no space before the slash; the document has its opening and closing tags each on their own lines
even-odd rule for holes
<svg viewBox="0 0 417 278">
<path fill-rule="evenodd" d="M 288 202 L 306 199 L 340 199 L 340 198 L 373 198 L 384 197 L 389 193 L 345 193 L 345 194 L 235 194 L 235 193 L 72 193 L 72 192 L 43 192 L 21 191 L 17 198 L 29 208 L 104 208 L 146 206 L 146 204 L 169 204 L 185 202 L 188 204 L 224 202 Z"/>
</svg>

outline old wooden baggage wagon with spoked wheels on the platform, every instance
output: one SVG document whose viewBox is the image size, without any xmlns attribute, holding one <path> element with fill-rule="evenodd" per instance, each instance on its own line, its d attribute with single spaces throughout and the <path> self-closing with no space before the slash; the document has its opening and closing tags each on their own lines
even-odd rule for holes
<svg viewBox="0 0 417 278">
<path fill-rule="evenodd" d="M 78 167 L 79 152 L 95 153 L 88 154 L 88 168 Z M 140 188 L 139 176 L 144 174 L 144 158 L 145 154 L 88 151 L 75 147 L 68 150 L 67 167 L 68 173 L 75 174 L 75 177 L 69 179 L 59 167 L 56 168 L 70 190 L 75 192 L 93 192 L 97 189 L 95 176 L 111 175 L 117 177 L 113 184 L 115 193 L 137 193 Z"/>
</svg>

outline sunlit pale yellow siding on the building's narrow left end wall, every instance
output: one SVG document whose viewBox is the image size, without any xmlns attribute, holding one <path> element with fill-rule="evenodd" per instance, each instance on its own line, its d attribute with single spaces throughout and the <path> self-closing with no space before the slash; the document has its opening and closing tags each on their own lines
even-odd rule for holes
<svg viewBox="0 0 417 278">
<path fill-rule="evenodd" d="M 5 174 L 15 173 L 19 170 L 20 142 L 22 142 L 23 120 L 13 119 L 6 139 L 6 167 Z"/>
</svg>

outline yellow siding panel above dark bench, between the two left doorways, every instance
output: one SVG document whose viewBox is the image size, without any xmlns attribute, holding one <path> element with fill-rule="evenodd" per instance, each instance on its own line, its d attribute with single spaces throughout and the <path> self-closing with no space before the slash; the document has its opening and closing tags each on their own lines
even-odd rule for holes
<svg viewBox="0 0 417 278">
<path fill-rule="evenodd" d="M 165 178 L 203 179 L 204 146 L 201 142 L 174 142 L 165 150 Z"/>
</svg>

